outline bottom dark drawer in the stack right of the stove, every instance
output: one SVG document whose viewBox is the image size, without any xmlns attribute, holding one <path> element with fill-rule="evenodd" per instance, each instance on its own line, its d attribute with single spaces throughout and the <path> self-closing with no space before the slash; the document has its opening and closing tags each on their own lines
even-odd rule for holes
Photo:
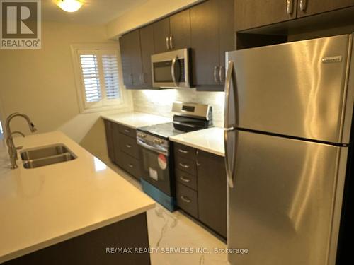
<svg viewBox="0 0 354 265">
<path fill-rule="evenodd" d="M 189 213 L 191 216 L 198 218 L 198 196 L 197 192 L 183 184 L 176 184 L 177 205 Z"/>
</svg>

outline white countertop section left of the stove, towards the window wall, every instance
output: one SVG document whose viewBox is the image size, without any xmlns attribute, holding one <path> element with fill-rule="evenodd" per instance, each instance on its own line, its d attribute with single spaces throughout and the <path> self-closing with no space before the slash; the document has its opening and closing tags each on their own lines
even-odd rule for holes
<svg viewBox="0 0 354 265">
<path fill-rule="evenodd" d="M 161 124 L 171 122 L 172 119 L 153 114 L 142 112 L 127 112 L 121 114 L 105 114 L 101 116 L 103 119 L 108 119 L 111 122 L 118 122 L 125 126 L 137 129 L 137 127 L 149 126 L 154 124 Z"/>
</svg>

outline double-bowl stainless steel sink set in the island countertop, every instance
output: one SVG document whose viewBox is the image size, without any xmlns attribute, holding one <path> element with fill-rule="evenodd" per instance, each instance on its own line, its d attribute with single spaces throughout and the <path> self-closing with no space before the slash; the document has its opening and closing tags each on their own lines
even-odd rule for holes
<svg viewBox="0 0 354 265">
<path fill-rule="evenodd" d="M 21 152 L 23 167 L 30 169 L 74 160 L 77 156 L 64 146 L 55 144 L 30 148 Z"/>
</svg>

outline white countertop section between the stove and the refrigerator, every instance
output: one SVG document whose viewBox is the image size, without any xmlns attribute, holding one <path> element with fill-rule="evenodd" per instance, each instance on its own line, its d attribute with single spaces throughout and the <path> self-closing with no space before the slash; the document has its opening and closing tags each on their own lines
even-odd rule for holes
<svg viewBox="0 0 354 265">
<path fill-rule="evenodd" d="M 212 127 L 186 134 L 178 134 L 169 138 L 176 143 L 198 148 L 202 151 L 224 156 L 224 129 Z"/>
</svg>

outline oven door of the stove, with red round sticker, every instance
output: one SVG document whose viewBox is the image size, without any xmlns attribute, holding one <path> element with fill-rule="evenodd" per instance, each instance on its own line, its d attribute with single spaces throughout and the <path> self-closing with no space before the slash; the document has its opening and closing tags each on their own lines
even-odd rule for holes
<svg viewBox="0 0 354 265">
<path fill-rule="evenodd" d="M 171 184 L 171 165 L 167 148 L 137 139 L 142 146 L 142 178 L 169 196 L 174 196 Z"/>
</svg>

